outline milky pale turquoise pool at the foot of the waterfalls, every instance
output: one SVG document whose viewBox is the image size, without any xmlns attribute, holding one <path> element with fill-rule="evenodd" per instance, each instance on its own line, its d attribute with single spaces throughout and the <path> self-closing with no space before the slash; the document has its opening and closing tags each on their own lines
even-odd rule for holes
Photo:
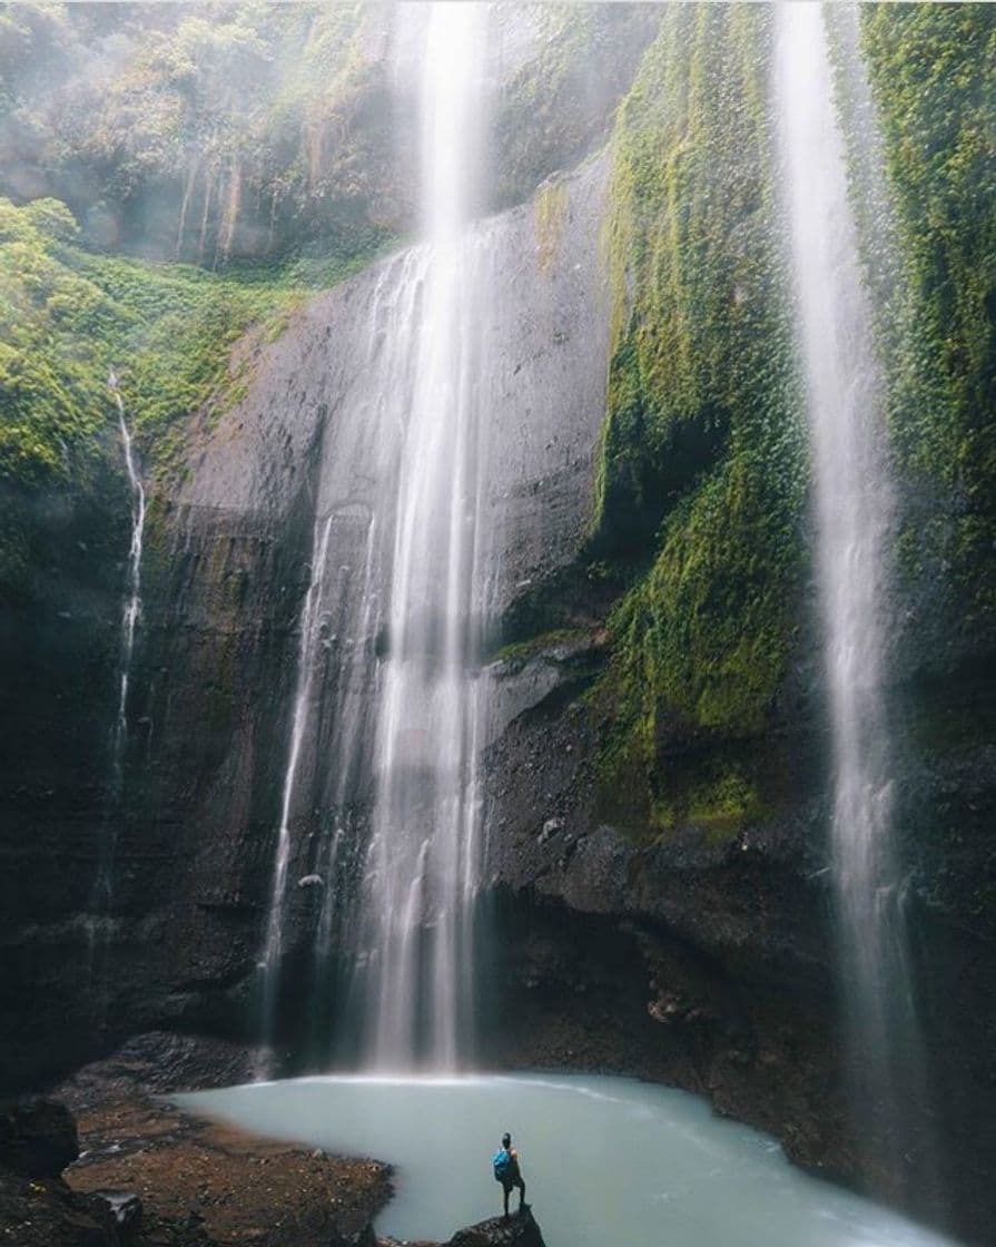
<svg viewBox="0 0 996 1247">
<path fill-rule="evenodd" d="M 501 1211 L 510 1130 L 547 1247 L 941 1247 L 950 1240 L 808 1177 L 708 1104 L 590 1075 L 309 1077 L 176 1097 L 184 1109 L 398 1167 L 384 1235 L 446 1241 Z M 512 1195 L 516 1206 L 517 1192 Z"/>
</svg>

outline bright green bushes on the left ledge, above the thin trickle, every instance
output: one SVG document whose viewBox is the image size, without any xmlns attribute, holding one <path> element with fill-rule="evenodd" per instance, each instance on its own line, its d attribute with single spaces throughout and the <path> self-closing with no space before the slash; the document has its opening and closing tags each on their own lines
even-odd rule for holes
<svg viewBox="0 0 996 1247">
<path fill-rule="evenodd" d="M 69 244 L 65 205 L 0 200 L 0 476 L 86 483 L 115 419 L 113 368 L 138 445 L 163 466 L 170 433 L 212 392 L 232 343 L 300 298 L 289 284 L 95 257 Z"/>
</svg>

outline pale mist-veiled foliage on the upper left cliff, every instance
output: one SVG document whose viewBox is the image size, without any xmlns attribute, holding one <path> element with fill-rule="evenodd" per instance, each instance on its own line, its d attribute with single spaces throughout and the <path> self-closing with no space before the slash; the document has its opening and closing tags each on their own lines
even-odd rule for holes
<svg viewBox="0 0 996 1247">
<path fill-rule="evenodd" d="M 370 20 L 360 2 L 2 5 L 0 193 L 54 187 L 102 246 L 211 264 L 365 251 L 393 200 Z"/>
</svg>

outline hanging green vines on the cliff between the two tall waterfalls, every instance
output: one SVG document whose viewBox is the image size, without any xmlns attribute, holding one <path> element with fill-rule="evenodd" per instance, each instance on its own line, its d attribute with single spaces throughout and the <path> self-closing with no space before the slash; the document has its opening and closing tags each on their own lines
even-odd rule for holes
<svg viewBox="0 0 996 1247">
<path fill-rule="evenodd" d="M 662 737 L 676 725 L 717 739 L 762 731 L 793 641 L 805 439 L 767 49 L 758 6 L 667 6 L 615 135 L 615 318 L 592 546 L 653 555 L 610 620 L 602 772 L 662 824 L 697 808 L 657 767 Z M 719 804 L 745 812 L 757 801 Z"/>
</svg>

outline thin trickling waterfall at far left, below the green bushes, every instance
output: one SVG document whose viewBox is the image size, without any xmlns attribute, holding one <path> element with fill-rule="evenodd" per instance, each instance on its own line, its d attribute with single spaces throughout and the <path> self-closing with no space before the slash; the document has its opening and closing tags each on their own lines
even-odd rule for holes
<svg viewBox="0 0 996 1247">
<path fill-rule="evenodd" d="M 121 796 L 122 768 L 125 762 L 125 746 L 128 736 L 128 680 L 131 677 L 131 660 L 135 652 L 135 630 L 138 625 L 138 616 L 142 612 L 142 539 L 146 524 L 146 491 L 142 479 L 135 464 L 132 450 L 131 429 L 125 415 L 125 402 L 121 398 L 117 377 L 113 370 L 108 373 L 107 388 L 115 397 L 117 407 L 117 428 L 121 434 L 121 445 L 125 450 L 125 469 L 128 475 L 131 489 L 131 544 L 128 546 L 128 575 L 127 596 L 121 612 L 121 656 L 118 658 L 117 678 L 117 715 L 111 728 L 111 806 L 116 806 Z M 110 812 L 108 812 L 110 821 Z M 116 849 L 113 827 L 105 827 L 101 837 L 100 853 L 97 859 L 97 878 L 93 888 L 93 907 L 105 912 L 111 902 L 113 889 L 113 858 Z"/>
</svg>

